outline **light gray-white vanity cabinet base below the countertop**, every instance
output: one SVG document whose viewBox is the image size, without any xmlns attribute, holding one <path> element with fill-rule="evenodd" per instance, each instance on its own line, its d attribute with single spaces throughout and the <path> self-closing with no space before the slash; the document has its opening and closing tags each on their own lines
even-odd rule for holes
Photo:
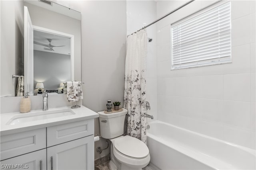
<svg viewBox="0 0 256 170">
<path fill-rule="evenodd" d="M 1 160 L 1 170 L 94 169 L 94 119 L 1 135 Z"/>
</svg>

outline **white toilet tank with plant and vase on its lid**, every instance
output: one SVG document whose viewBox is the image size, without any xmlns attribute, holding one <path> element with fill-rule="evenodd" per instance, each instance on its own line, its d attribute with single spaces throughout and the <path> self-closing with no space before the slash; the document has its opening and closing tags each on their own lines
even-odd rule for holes
<svg viewBox="0 0 256 170">
<path fill-rule="evenodd" d="M 116 113 L 98 112 L 100 119 L 100 136 L 105 139 L 112 139 L 124 134 L 124 119 L 127 110 Z"/>
</svg>

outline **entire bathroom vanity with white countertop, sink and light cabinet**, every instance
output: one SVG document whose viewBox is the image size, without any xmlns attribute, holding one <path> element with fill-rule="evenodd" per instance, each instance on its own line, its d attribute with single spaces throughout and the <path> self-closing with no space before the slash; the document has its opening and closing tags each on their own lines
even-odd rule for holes
<svg viewBox="0 0 256 170">
<path fill-rule="evenodd" d="M 1 169 L 94 169 L 96 117 L 84 106 L 1 114 Z"/>
</svg>

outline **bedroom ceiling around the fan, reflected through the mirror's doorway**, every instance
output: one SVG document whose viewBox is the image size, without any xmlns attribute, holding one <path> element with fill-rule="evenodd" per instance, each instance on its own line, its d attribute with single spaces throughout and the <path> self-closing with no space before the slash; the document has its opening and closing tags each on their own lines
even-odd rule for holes
<svg viewBox="0 0 256 170">
<path fill-rule="evenodd" d="M 54 51 L 49 51 L 45 50 L 44 48 L 47 48 L 42 45 L 38 45 L 34 43 L 34 50 L 38 51 L 45 51 L 49 53 L 58 53 L 58 54 L 65 54 L 65 55 L 70 55 L 70 38 L 68 37 L 62 37 L 60 35 L 55 35 L 52 33 L 47 33 L 47 32 L 42 32 L 42 31 L 37 31 L 34 30 L 34 41 L 38 43 L 42 43 L 45 45 L 49 44 L 48 39 L 52 39 L 51 45 L 54 46 L 61 46 L 64 45 L 63 47 L 53 47 Z"/>
</svg>

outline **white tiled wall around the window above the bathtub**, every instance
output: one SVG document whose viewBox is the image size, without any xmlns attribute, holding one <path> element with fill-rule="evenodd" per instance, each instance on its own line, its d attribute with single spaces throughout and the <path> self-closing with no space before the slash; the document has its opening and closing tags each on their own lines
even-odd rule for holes
<svg viewBox="0 0 256 170">
<path fill-rule="evenodd" d="M 185 2 L 157 1 L 157 16 Z M 156 24 L 158 119 L 255 149 L 254 0 L 231 1 L 232 63 L 170 70 L 170 23 L 213 2 L 192 2 Z"/>
</svg>

